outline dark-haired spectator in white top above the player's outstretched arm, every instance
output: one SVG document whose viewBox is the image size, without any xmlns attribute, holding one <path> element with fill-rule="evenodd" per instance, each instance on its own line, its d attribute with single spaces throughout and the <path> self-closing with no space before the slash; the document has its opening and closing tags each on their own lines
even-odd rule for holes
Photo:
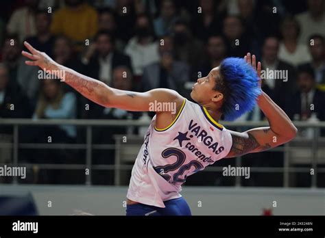
<svg viewBox="0 0 325 238">
<path fill-rule="evenodd" d="M 135 77 L 141 78 L 143 68 L 159 60 L 158 42 L 154 39 L 150 19 L 145 15 L 136 18 L 135 34 L 125 47 L 125 53 L 131 57 Z"/>
</svg>

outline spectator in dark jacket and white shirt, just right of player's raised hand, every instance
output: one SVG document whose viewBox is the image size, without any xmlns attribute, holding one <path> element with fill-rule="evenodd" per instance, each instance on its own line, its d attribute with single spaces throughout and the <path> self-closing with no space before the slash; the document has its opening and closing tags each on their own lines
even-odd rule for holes
<svg viewBox="0 0 325 238">
<path fill-rule="evenodd" d="M 278 50 L 278 38 L 275 36 L 265 38 L 261 59 L 262 70 L 265 72 L 265 76 L 262 80 L 262 88 L 281 108 L 283 108 L 286 99 L 288 99 L 286 96 L 289 96 L 296 91 L 296 69 L 287 62 L 278 58 Z M 282 73 L 282 78 L 269 78 L 267 72 L 271 71 L 280 73 L 285 72 L 285 74 Z M 287 79 L 285 79 L 285 75 L 287 76 Z"/>
</svg>

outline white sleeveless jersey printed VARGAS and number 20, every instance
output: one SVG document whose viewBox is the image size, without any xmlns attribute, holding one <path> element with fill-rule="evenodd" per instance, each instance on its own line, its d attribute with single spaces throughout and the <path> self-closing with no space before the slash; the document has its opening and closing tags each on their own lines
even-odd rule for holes
<svg viewBox="0 0 325 238">
<path fill-rule="evenodd" d="M 185 98 L 169 127 L 157 129 L 155 124 L 156 116 L 136 157 L 127 197 L 165 207 L 164 201 L 181 196 L 187 176 L 228 155 L 232 137 L 205 107 Z"/>
</svg>

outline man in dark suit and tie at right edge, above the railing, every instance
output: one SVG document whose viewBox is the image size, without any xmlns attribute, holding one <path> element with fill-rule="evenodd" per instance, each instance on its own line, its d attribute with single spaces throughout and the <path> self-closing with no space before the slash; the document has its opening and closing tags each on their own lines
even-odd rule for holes
<svg viewBox="0 0 325 238">
<path fill-rule="evenodd" d="M 308 120 L 315 114 L 325 120 L 325 93 L 315 84 L 315 73 L 310 66 L 298 68 L 298 92 L 288 101 L 289 116 L 295 120 Z"/>
</svg>

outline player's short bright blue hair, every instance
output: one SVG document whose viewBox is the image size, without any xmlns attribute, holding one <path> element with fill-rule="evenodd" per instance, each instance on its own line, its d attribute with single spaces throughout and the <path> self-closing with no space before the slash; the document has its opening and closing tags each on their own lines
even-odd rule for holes
<svg viewBox="0 0 325 238">
<path fill-rule="evenodd" d="M 221 87 L 224 85 L 222 112 L 225 120 L 235 120 L 246 111 L 252 111 L 256 98 L 261 94 L 256 71 L 244 59 L 228 57 L 220 66 Z M 216 89 L 218 90 L 218 82 Z M 221 90 L 222 92 L 223 90 Z"/>
</svg>

